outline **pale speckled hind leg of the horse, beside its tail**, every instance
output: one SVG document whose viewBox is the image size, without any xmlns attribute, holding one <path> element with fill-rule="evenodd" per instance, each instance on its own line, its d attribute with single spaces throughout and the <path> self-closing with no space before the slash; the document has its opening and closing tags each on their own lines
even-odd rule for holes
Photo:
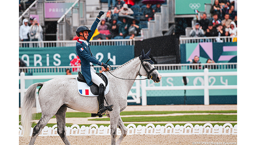
<svg viewBox="0 0 256 145">
<path fill-rule="evenodd" d="M 37 125 L 33 129 L 33 133 L 29 141 L 29 145 L 33 145 L 35 143 L 36 137 L 40 134 L 40 132 L 45 127 L 45 125 L 47 125 L 48 121 L 52 118 L 52 116 L 54 116 L 54 114 L 44 115 L 42 113 L 40 120 L 38 121 Z"/>
</svg>

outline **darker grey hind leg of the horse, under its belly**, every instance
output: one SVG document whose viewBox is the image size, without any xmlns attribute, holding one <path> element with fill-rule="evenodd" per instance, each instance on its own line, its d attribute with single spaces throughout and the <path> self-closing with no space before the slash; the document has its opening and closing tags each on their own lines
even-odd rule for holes
<svg viewBox="0 0 256 145">
<path fill-rule="evenodd" d="M 61 136 L 61 139 L 66 145 L 70 145 L 69 141 L 67 140 L 66 136 L 66 111 L 67 107 L 61 107 L 57 113 L 55 114 L 57 120 L 57 133 Z"/>
</svg>

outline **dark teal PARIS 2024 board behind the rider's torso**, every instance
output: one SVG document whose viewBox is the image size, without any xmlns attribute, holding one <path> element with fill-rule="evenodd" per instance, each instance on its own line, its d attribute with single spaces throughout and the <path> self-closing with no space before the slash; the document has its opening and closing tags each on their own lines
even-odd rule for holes
<svg viewBox="0 0 256 145">
<path fill-rule="evenodd" d="M 134 58 L 134 46 L 91 46 L 97 60 L 109 65 L 122 65 Z M 28 67 L 70 66 L 76 57 L 75 47 L 19 48 L 19 58 Z"/>
</svg>

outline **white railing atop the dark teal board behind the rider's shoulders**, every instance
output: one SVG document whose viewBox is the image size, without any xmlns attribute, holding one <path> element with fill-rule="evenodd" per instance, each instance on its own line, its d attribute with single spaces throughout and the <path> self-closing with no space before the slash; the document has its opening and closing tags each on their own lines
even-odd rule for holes
<svg viewBox="0 0 256 145">
<path fill-rule="evenodd" d="M 36 44 L 36 45 L 33 45 Z M 105 39 L 105 40 L 90 40 L 91 46 L 126 46 L 134 45 L 133 39 Z M 76 46 L 76 40 L 67 41 L 20 41 L 19 47 L 28 46 L 33 47 L 68 47 Z"/>
</svg>

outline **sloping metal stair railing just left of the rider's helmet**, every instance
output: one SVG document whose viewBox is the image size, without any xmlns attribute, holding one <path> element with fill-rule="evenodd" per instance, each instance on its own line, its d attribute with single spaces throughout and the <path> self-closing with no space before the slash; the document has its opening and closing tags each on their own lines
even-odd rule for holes
<svg viewBox="0 0 256 145">
<path fill-rule="evenodd" d="M 82 5 L 82 17 L 80 16 L 80 5 Z M 56 39 L 72 40 L 76 36 L 76 28 L 86 24 L 86 2 L 76 0 L 73 5 L 57 21 Z"/>
</svg>

